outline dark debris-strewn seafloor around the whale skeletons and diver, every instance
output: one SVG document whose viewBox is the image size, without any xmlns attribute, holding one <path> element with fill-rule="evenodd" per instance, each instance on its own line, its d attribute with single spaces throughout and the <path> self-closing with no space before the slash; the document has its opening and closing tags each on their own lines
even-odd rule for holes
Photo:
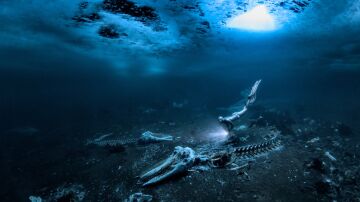
<svg viewBox="0 0 360 202">
<path fill-rule="evenodd" d="M 208 131 L 216 125 L 214 114 L 224 112 L 172 107 L 139 113 L 142 118 L 127 125 L 79 123 L 53 131 L 9 131 L 12 135 L 1 137 L 2 201 L 28 201 L 29 196 L 46 201 L 123 201 L 136 192 L 152 195 L 153 201 L 360 199 L 358 129 L 261 105 L 251 107 L 238 123 L 251 125 L 236 132 L 247 137 L 239 144 L 260 142 L 266 132 L 278 130 L 280 149 L 245 159 L 248 166 L 242 170 L 189 172 L 142 188 L 136 177 L 169 156 L 175 146 L 196 150 L 219 143 Z M 175 140 L 134 142 L 147 130 L 171 134 Z M 110 150 L 86 144 L 107 133 L 124 140 L 123 147 Z"/>
</svg>

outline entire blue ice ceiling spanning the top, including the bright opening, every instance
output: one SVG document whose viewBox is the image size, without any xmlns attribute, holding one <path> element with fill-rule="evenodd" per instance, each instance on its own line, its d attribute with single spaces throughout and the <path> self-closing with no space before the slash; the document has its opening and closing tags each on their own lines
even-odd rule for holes
<svg viewBox="0 0 360 202">
<path fill-rule="evenodd" d="M 360 58 L 359 2 L 4 0 L 0 45 L 5 58 L 18 50 L 51 57 L 81 53 L 145 75 L 259 61 L 353 69 Z M 26 60 L 36 58 L 30 55 Z M 169 61 L 178 55 L 185 58 Z"/>
</svg>

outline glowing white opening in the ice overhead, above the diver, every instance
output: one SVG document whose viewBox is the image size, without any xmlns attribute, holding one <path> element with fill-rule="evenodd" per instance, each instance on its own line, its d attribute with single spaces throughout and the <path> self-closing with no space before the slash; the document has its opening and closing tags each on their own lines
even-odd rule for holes
<svg viewBox="0 0 360 202">
<path fill-rule="evenodd" d="M 231 18 L 227 27 L 251 30 L 271 31 L 276 29 L 275 19 L 265 5 L 257 5 L 250 11 Z"/>
</svg>

